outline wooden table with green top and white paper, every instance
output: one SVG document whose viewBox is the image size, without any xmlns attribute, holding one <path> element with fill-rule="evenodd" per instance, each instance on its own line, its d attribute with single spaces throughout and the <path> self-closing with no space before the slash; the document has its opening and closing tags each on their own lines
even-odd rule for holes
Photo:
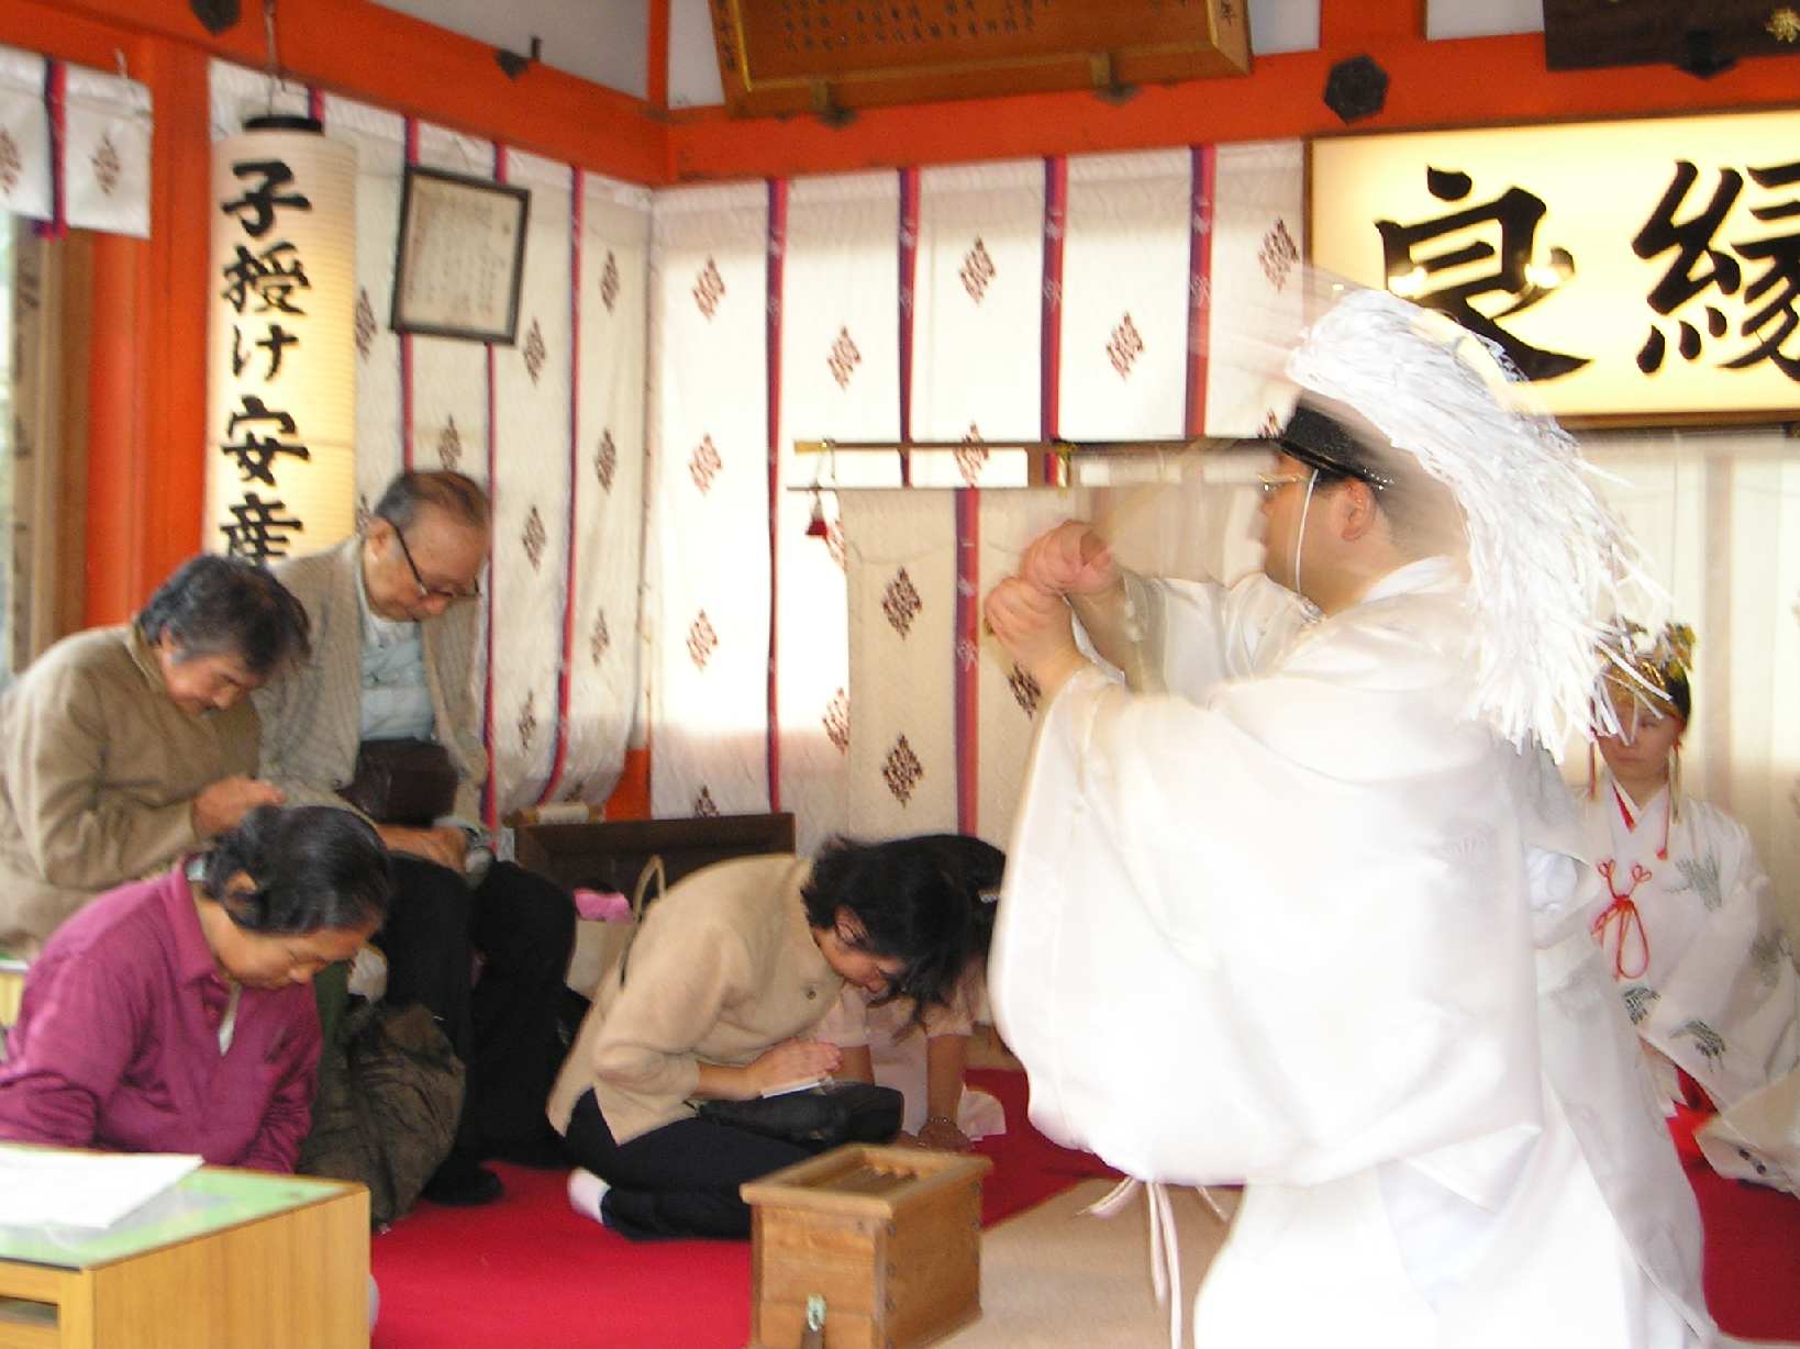
<svg viewBox="0 0 1800 1349">
<path fill-rule="evenodd" d="M 0 1349 L 367 1349 L 369 1193 L 202 1167 L 104 1230 L 0 1227 Z"/>
</svg>

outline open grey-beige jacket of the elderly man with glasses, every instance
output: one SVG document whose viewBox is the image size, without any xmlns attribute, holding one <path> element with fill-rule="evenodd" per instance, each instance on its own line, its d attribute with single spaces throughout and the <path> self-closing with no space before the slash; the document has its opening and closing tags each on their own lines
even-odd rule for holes
<svg viewBox="0 0 1800 1349">
<path fill-rule="evenodd" d="M 263 714 L 263 777 L 295 806 L 344 806 L 337 790 L 356 775 L 362 743 L 362 538 L 328 552 L 290 558 L 275 577 L 306 608 L 313 655 L 256 692 Z M 472 673 L 481 635 L 481 604 L 452 604 L 419 624 L 425 683 L 432 694 L 436 736 L 457 770 L 455 815 L 481 818 L 488 754 Z"/>
</svg>

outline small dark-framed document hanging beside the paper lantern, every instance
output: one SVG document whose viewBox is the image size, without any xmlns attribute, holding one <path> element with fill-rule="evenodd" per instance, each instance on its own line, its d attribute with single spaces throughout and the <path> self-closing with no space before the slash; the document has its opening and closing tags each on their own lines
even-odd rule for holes
<svg viewBox="0 0 1800 1349">
<path fill-rule="evenodd" d="M 529 189 L 409 164 L 391 327 L 515 345 L 529 225 Z"/>
</svg>

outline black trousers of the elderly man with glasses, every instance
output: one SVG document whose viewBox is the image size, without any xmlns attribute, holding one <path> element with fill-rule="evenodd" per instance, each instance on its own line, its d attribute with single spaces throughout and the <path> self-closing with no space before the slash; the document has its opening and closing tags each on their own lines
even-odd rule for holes
<svg viewBox="0 0 1800 1349">
<path fill-rule="evenodd" d="M 387 955 L 387 1000 L 430 1007 L 468 1068 L 457 1148 L 529 1146 L 545 1131 L 544 1103 L 562 1067 L 556 1011 L 574 899 L 511 862 L 495 862 L 470 889 L 448 867 L 394 853 L 394 880 L 374 937 Z"/>
</svg>

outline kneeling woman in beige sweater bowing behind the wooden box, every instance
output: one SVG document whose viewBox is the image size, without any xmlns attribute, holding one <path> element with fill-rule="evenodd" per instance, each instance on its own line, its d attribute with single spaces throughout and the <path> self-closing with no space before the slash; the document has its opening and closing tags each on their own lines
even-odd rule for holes
<svg viewBox="0 0 1800 1349">
<path fill-rule="evenodd" d="M 833 840 L 815 860 L 738 858 L 680 880 L 603 980 L 551 1124 L 583 1169 L 569 1198 L 628 1237 L 745 1237 L 745 1180 L 810 1155 L 718 1124 L 698 1101 L 749 1101 L 828 1076 L 812 1038 L 846 984 L 920 1005 L 963 969 L 972 892 L 932 840 Z"/>
</svg>

